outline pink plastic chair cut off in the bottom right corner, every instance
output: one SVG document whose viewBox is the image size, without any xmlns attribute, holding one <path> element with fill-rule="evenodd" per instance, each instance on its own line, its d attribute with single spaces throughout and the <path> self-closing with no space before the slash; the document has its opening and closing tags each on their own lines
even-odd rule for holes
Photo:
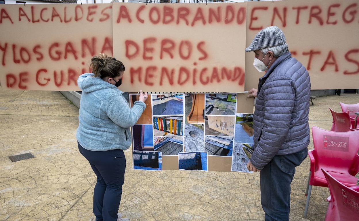
<svg viewBox="0 0 359 221">
<path fill-rule="evenodd" d="M 322 169 L 330 197 L 325 221 L 354 221 L 359 218 L 359 186 L 347 187 Z"/>
</svg>

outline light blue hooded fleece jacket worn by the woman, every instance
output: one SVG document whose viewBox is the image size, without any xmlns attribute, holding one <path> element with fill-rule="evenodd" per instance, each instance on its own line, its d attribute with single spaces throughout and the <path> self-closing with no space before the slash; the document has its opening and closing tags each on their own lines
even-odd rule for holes
<svg viewBox="0 0 359 221">
<path fill-rule="evenodd" d="M 80 75 L 77 83 L 82 90 L 76 134 L 81 146 L 94 151 L 128 149 L 132 143 L 130 127 L 140 118 L 146 104 L 136 101 L 130 108 L 122 91 L 93 77 L 93 73 Z"/>
</svg>

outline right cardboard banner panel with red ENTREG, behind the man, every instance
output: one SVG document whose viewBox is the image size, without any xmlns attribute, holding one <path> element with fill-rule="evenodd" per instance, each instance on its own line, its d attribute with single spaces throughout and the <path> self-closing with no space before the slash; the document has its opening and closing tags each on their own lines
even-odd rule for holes
<svg viewBox="0 0 359 221">
<path fill-rule="evenodd" d="M 359 3 L 357 0 L 286 0 L 247 3 L 248 47 L 261 29 L 283 30 L 289 51 L 308 70 L 311 89 L 358 88 Z M 246 53 L 245 90 L 258 87 L 264 72 Z"/>
</svg>

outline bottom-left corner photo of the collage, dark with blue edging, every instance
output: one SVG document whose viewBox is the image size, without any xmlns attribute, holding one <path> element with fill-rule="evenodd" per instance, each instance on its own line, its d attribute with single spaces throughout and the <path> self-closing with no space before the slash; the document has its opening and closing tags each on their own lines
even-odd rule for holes
<svg viewBox="0 0 359 221">
<path fill-rule="evenodd" d="M 162 153 L 153 151 L 132 152 L 134 169 L 162 170 Z"/>
</svg>

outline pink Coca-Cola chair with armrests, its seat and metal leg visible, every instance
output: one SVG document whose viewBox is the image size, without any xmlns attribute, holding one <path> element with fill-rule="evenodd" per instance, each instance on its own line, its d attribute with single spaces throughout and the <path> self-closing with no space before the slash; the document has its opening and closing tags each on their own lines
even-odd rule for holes
<svg viewBox="0 0 359 221">
<path fill-rule="evenodd" d="M 312 186 L 328 187 L 321 169 L 327 170 L 345 186 L 356 185 L 358 178 L 354 176 L 359 171 L 359 130 L 335 132 L 313 126 L 312 134 L 314 149 L 308 152 L 311 167 L 304 218 L 307 217 Z"/>
</svg>

